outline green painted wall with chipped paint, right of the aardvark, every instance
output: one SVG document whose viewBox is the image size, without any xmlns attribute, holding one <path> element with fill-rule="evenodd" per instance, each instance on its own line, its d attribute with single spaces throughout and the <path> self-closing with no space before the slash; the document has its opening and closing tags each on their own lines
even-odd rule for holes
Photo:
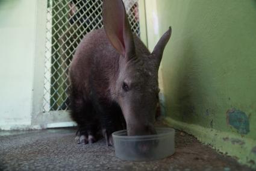
<svg viewBox="0 0 256 171">
<path fill-rule="evenodd" d="M 172 26 L 167 122 L 256 167 L 256 1 L 145 2 L 150 49 Z"/>
</svg>

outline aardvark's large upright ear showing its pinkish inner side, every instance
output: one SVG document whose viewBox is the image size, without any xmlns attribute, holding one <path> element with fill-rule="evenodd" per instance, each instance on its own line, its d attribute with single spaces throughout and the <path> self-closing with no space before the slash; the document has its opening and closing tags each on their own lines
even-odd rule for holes
<svg viewBox="0 0 256 171">
<path fill-rule="evenodd" d="M 104 0 L 102 16 L 105 33 L 114 48 L 123 57 L 135 54 L 133 33 L 131 32 L 123 1 Z"/>
</svg>

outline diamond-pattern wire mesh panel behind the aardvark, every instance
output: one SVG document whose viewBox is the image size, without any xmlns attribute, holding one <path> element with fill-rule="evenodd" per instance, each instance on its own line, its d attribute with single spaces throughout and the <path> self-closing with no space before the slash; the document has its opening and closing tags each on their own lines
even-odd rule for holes
<svg viewBox="0 0 256 171">
<path fill-rule="evenodd" d="M 139 0 L 123 0 L 134 33 L 140 35 Z M 76 46 L 102 28 L 102 0 L 48 0 L 43 111 L 67 110 L 68 67 Z"/>
</svg>

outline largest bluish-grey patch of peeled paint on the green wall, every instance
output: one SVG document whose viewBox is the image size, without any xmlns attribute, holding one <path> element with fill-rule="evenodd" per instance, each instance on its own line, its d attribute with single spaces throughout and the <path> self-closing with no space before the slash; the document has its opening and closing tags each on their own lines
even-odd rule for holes
<svg viewBox="0 0 256 171">
<path fill-rule="evenodd" d="M 243 111 L 231 109 L 226 111 L 226 123 L 237 129 L 239 134 L 248 134 L 249 118 Z"/>
</svg>

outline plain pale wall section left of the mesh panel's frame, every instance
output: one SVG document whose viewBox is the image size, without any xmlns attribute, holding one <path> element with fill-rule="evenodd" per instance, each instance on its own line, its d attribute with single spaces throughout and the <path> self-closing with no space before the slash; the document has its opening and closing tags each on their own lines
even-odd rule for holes
<svg viewBox="0 0 256 171">
<path fill-rule="evenodd" d="M 0 128 L 30 125 L 36 2 L 0 1 Z"/>
</svg>

